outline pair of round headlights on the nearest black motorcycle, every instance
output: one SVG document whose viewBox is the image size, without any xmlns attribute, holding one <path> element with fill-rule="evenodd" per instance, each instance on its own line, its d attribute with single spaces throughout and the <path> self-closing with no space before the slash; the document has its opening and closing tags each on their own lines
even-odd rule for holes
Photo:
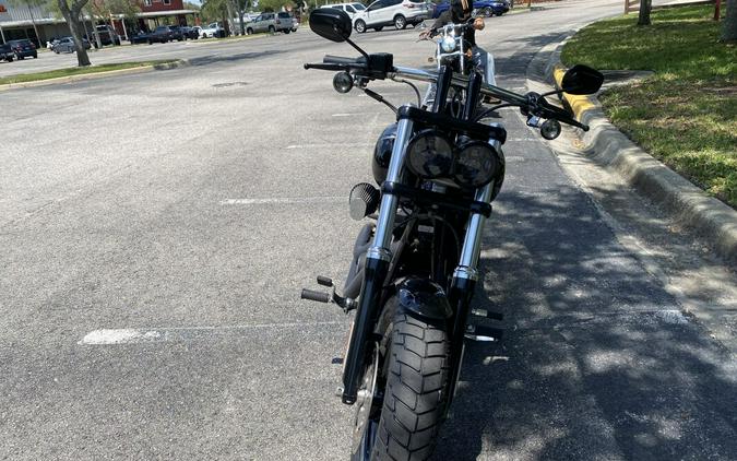
<svg viewBox="0 0 737 461">
<path fill-rule="evenodd" d="M 462 187 L 489 184 L 501 168 L 497 151 L 484 141 L 466 141 L 454 147 L 442 133 L 419 131 L 407 145 L 407 166 L 424 179 L 451 179 Z"/>
</svg>

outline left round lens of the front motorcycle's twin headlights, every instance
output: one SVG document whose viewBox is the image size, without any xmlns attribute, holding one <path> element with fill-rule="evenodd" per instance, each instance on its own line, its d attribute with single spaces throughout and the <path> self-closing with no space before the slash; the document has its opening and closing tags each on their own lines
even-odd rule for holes
<svg viewBox="0 0 737 461">
<path fill-rule="evenodd" d="M 447 177 L 453 168 L 453 144 L 436 130 L 418 132 L 407 145 L 407 166 L 420 178 Z"/>
</svg>

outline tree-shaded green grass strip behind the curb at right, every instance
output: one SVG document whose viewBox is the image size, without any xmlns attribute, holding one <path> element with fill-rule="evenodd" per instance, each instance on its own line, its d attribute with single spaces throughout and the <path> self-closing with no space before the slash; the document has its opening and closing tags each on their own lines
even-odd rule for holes
<svg viewBox="0 0 737 461">
<path fill-rule="evenodd" d="M 654 11 L 581 29 L 564 47 L 567 66 L 652 70 L 599 99 L 622 132 L 706 192 L 737 208 L 737 47 L 718 42 L 713 5 Z"/>
</svg>

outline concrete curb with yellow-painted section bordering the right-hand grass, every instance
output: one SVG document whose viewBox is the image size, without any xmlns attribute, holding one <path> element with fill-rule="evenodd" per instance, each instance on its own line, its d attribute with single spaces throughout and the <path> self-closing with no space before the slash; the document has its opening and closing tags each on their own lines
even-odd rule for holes
<svg viewBox="0 0 737 461">
<path fill-rule="evenodd" d="M 531 74 L 535 74 L 535 80 L 540 79 L 559 87 L 564 72 L 560 51 L 573 34 L 538 51 L 533 59 L 537 62 L 530 64 L 528 80 Z M 737 211 L 706 196 L 703 190 L 630 141 L 609 122 L 595 96 L 564 95 L 564 99 L 573 109 L 575 118 L 591 127 L 587 132 L 581 132 L 584 154 L 619 174 L 678 223 L 706 239 L 718 256 L 737 262 Z"/>
</svg>

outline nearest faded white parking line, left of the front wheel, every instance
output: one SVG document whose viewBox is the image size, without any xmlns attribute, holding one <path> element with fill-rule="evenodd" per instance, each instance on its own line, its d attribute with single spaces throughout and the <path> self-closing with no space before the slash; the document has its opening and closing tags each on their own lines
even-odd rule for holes
<svg viewBox="0 0 737 461">
<path fill-rule="evenodd" d="M 202 340 L 213 335 L 223 334 L 238 330 L 255 329 L 289 329 L 289 328 L 310 328 L 310 327 L 331 327 L 343 326 L 345 321 L 314 322 L 314 323 L 257 323 L 242 326 L 225 327 L 175 327 L 157 329 L 104 329 L 95 330 L 85 334 L 78 342 L 80 345 L 114 345 L 114 344 L 142 344 L 142 343 L 162 343 L 185 340 Z"/>
</svg>

